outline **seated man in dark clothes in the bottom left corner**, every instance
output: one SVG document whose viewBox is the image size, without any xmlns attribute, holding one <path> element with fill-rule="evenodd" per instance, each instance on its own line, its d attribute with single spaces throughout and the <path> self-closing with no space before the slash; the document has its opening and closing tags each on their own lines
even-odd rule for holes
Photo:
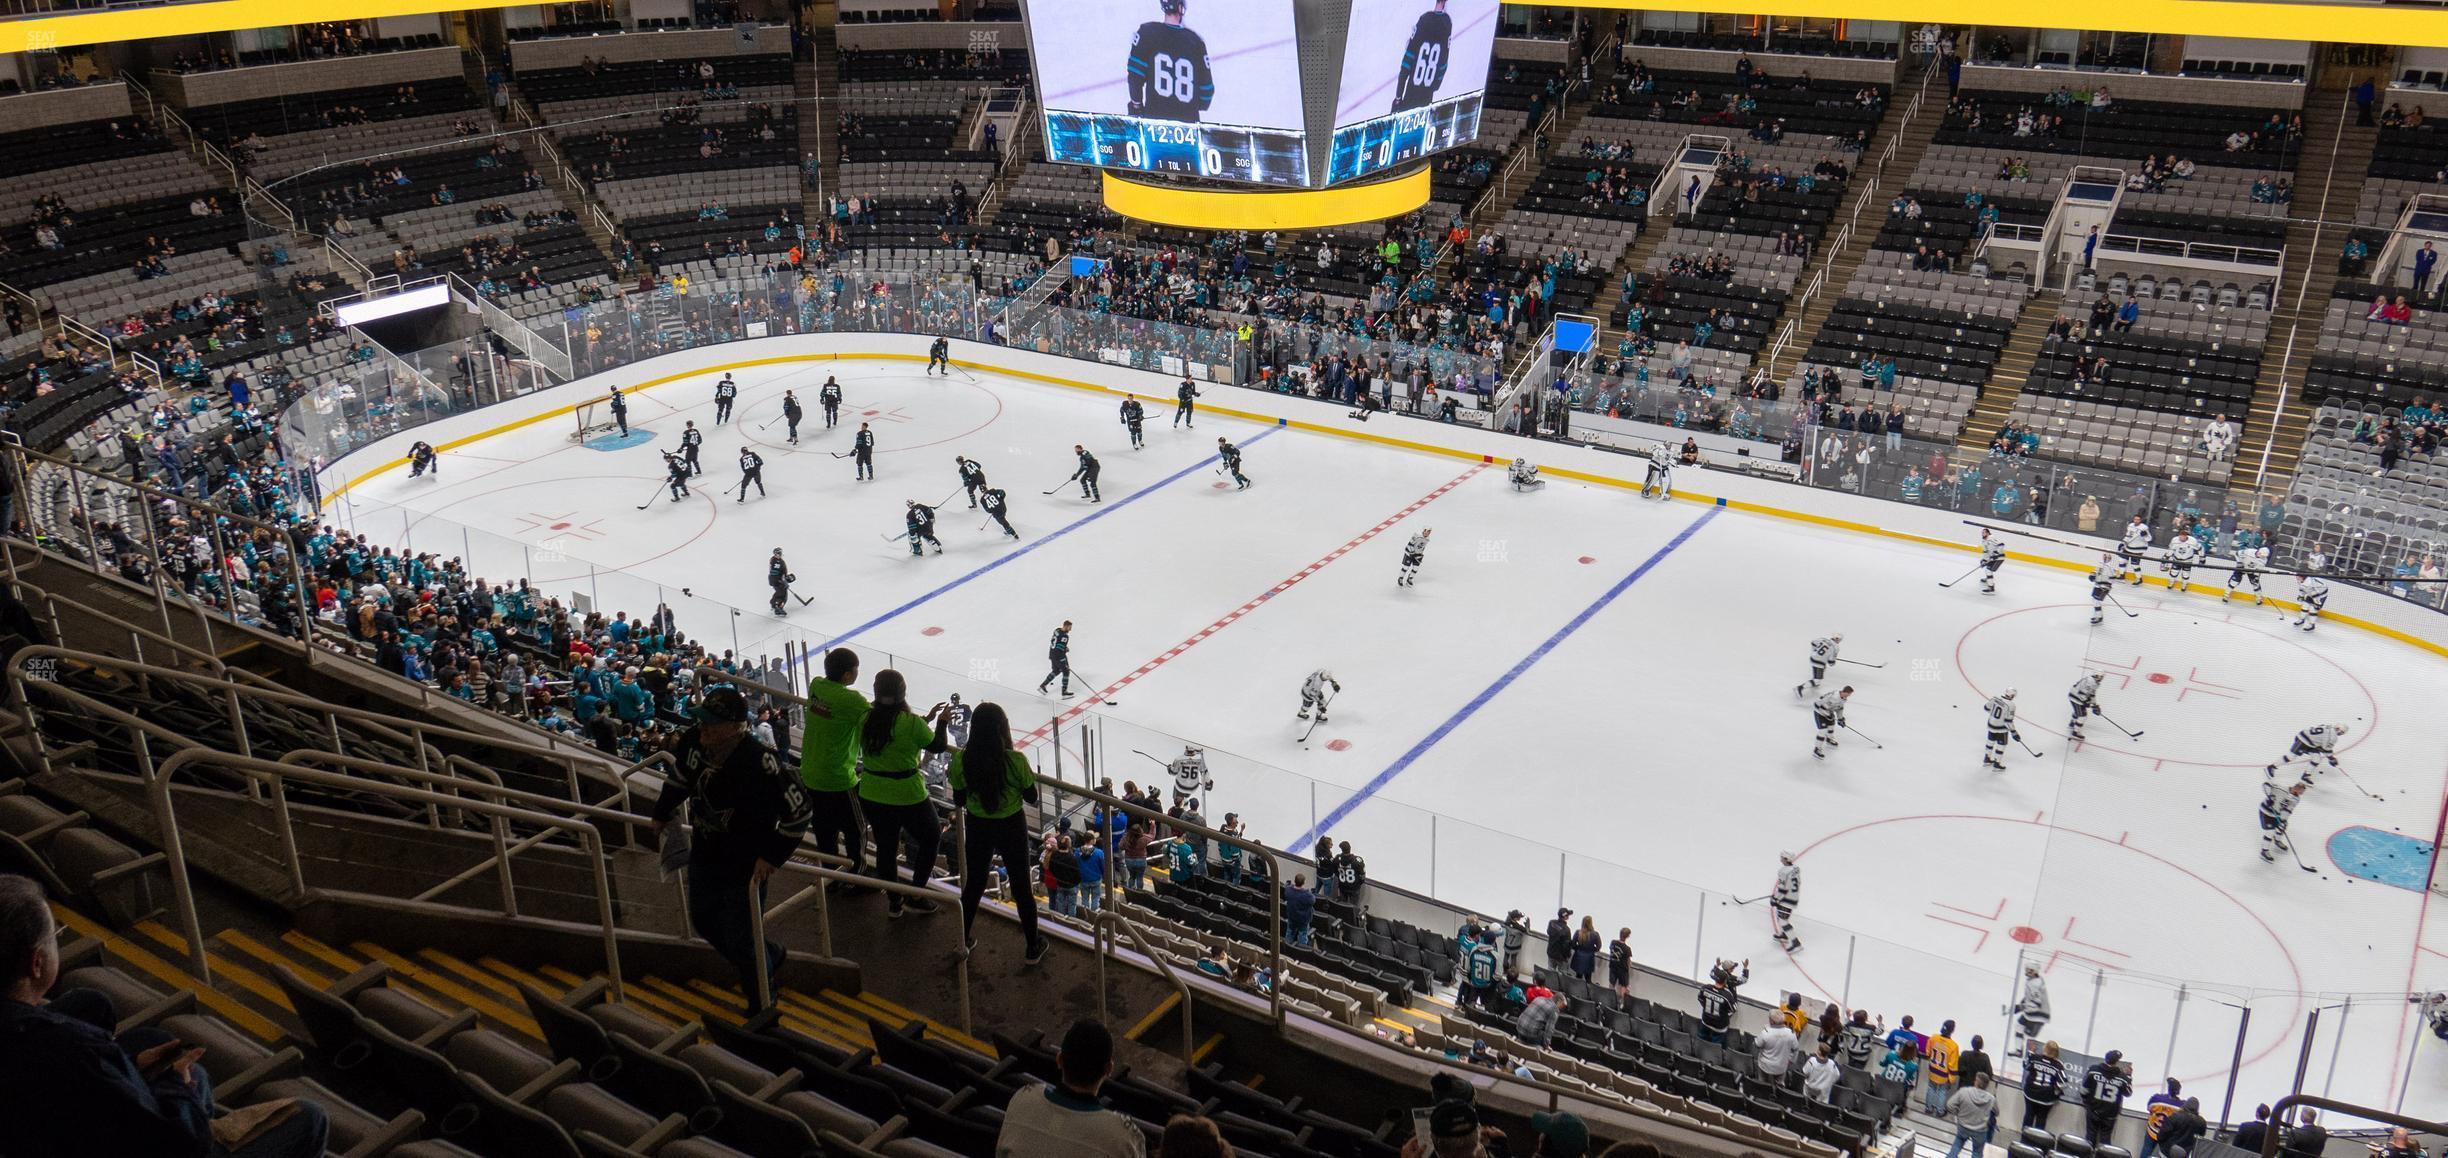
<svg viewBox="0 0 2448 1158">
<path fill-rule="evenodd" d="M 0 1087 L 17 1107 L 7 1151 L 24 1158 L 103 1153 L 211 1153 L 318 1158 L 330 1134 L 323 1107 L 289 1102 L 269 1126 L 213 1119 L 203 1048 L 162 1028 L 113 1040 L 120 1011 L 93 989 L 51 994 L 59 928 L 42 886 L 0 876 Z M 237 1146 L 230 1146 L 237 1141 Z"/>
</svg>

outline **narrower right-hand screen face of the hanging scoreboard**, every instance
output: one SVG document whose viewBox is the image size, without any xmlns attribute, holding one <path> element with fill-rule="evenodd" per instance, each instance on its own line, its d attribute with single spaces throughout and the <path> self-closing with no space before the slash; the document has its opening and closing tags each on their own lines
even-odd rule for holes
<svg viewBox="0 0 2448 1158">
<path fill-rule="evenodd" d="M 1479 137 L 1498 0 L 1351 0 L 1327 184 Z"/>
</svg>

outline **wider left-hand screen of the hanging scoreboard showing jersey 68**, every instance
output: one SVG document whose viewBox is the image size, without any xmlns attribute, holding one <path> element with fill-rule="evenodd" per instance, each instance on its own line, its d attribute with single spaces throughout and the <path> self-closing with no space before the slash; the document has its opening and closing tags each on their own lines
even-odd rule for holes
<svg viewBox="0 0 2448 1158">
<path fill-rule="evenodd" d="M 1293 0 L 1031 0 L 1028 49 L 1053 162 L 1310 184 Z"/>
</svg>

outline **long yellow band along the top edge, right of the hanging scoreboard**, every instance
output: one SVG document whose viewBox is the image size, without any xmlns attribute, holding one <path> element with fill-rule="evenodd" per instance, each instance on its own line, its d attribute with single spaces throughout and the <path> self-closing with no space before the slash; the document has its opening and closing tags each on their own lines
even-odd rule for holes
<svg viewBox="0 0 2448 1158">
<path fill-rule="evenodd" d="M 1692 0 L 1540 0 L 1540 7 L 1694 12 Z M 1699 12 L 1748 17 L 1900 20 L 1905 24 L 2059 27 L 2328 44 L 2448 49 L 2448 12 L 2286 0 L 1704 0 Z"/>
</svg>

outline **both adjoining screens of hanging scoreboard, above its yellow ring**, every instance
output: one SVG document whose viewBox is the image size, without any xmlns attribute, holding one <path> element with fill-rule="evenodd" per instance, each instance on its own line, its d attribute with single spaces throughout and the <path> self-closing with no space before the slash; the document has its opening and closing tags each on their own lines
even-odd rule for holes
<svg viewBox="0 0 2448 1158">
<path fill-rule="evenodd" d="M 1045 157 L 1322 189 L 1479 137 L 1498 0 L 1026 0 Z"/>
</svg>

